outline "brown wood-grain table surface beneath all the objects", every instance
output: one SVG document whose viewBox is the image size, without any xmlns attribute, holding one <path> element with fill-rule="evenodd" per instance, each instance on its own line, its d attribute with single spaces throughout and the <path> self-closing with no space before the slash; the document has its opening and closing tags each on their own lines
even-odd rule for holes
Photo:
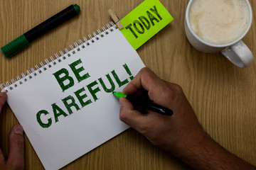
<svg viewBox="0 0 256 170">
<path fill-rule="evenodd" d="M 254 10 L 256 1 L 249 1 Z M 0 52 L 0 82 L 10 81 L 109 23 L 108 9 L 112 8 L 122 18 L 140 3 L 142 0 L 1 0 L 1 47 L 70 4 L 78 4 L 81 12 L 78 17 L 46 33 L 10 59 Z M 256 165 L 256 61 L 240 69 L 220 53 L 203 54 L 193 49 L 186 39 L 183 26 L 188 0 L 161 0 L 161 3 L 174 21 L 140 47 L 137 50 L 139 56 L 146 67 L 159 77 L 183 87 L 201 125 L 215 141 Z M 255 13 L 252 28 L 244 42 L 256 56 Z M 0 115 L 0 146 L 6 153 L 9 131 L 16 123 L 18 121 L 6 104 Z M 75 140 L 79 140 L 79 137 L 74 139 L 74 143 Z M 26 169 L 43 169 L 27 137 L 25 142 Z M 190 168 L 171 154 L 154 147 L 130 128 L 63 169 Z"/>
</svg>

